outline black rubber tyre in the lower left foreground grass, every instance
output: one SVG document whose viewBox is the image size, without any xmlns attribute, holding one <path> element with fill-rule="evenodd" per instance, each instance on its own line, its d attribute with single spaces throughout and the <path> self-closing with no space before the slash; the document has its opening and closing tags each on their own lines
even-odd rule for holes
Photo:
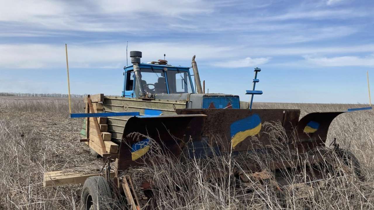
<svg viewBox="0 0 374 210">
<path fill-rule="evenodd" d="M 110 186 L 102 176 L 86 179 L 80 195 L 82 210 L 112 209 L 113 195 Z"/>
</svg>

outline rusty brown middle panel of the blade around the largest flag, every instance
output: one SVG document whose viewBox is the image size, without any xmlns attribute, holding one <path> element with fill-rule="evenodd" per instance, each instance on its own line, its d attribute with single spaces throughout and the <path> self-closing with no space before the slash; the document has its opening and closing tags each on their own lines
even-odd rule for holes
<svg viewBox="0 0 374 210">
<path fill-rule="evenodd" d="M 221 152 L 230 151 L 232 147 L 230 127 L 238 120 L 258 115 L 261 123 L 284 122 L 286 128 L 288 128 L 286 132 L 291 133 L 291 127 L 296 127 L 300 115 L 298 109 L 176 109 L 176 112 L 178 114 L 207 115 L 202 135 L 208 136 L 209 143 L 212 146 L 218 144 Z M 269 136 L 263 131 L 264 128 L 261 128 L 258 134 L 246 137 L 232 148 L 233 151 L 267 148 L 267 145 L 270 145 L 271 142 L 269 142 Z"/>
</svg>

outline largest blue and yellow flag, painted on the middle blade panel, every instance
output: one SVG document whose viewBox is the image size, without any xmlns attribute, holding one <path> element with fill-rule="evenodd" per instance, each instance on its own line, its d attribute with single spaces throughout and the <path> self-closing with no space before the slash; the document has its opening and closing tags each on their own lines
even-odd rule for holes
<svg viewBox="0 0 374 210">
<path fill-rule="evenodd" d="M 260 133 L 261 118 L 258 114 L 251 115 L 233 122 L 230 126 L 231 142 L 234 148 L 248 136 L 254 136 Z"/>
</svg>

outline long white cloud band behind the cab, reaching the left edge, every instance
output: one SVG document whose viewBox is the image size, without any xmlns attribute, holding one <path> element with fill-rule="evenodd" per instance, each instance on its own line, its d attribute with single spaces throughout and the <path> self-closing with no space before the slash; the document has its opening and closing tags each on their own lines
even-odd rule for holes
<svg viewBox="0 0 374 210">
<path fill-rule="evenodd" d="M 190 63 L 197 60 L 222 58 L 229 47 L 188 43 L 130 43 L 129 51 L 143 52 L 142 62 L 157 60 L 166 53 L 169 62 Z M 126 64 L 126 44 L 68 45 L 70 67 L 108 68 Z M 179 65 L 179 64 L 178 64 Z M 0 68 L 58 68 L 65 66 L 65 46 L 50 44 L 0 44 Z"/>
</svg>

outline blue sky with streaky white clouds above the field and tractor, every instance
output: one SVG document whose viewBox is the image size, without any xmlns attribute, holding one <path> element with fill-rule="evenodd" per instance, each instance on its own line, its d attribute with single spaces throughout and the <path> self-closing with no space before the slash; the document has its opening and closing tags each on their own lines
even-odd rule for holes
<svg viewBox="0 0 374 210">
<path fill-rule="evenodd" d="M 143 62 L 191 66 L 209 93 L 368 103 L 374 1 L 0 1 L 0 92 L 120 95 L 126 41 Z M 374 90 L 372 90 L 374 92 Z"/>
</svg>

